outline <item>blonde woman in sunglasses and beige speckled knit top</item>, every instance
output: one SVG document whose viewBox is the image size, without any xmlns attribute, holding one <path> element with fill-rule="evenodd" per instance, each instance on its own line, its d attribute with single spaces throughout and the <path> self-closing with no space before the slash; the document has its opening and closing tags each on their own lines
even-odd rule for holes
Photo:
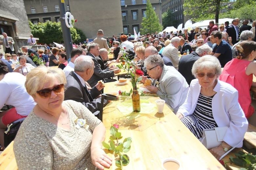
<svg viewBox="0 0 256 170">
<path fill-rule="evenodd" d="M 27 92 L 37 103 L 13 146 L 18 169 L 103 170 L 112 164 L 102 150 L 105 127 L 81 103 L 64 100 L 61 69 L 39 66 L 28 73 Z"/>
</svg>

